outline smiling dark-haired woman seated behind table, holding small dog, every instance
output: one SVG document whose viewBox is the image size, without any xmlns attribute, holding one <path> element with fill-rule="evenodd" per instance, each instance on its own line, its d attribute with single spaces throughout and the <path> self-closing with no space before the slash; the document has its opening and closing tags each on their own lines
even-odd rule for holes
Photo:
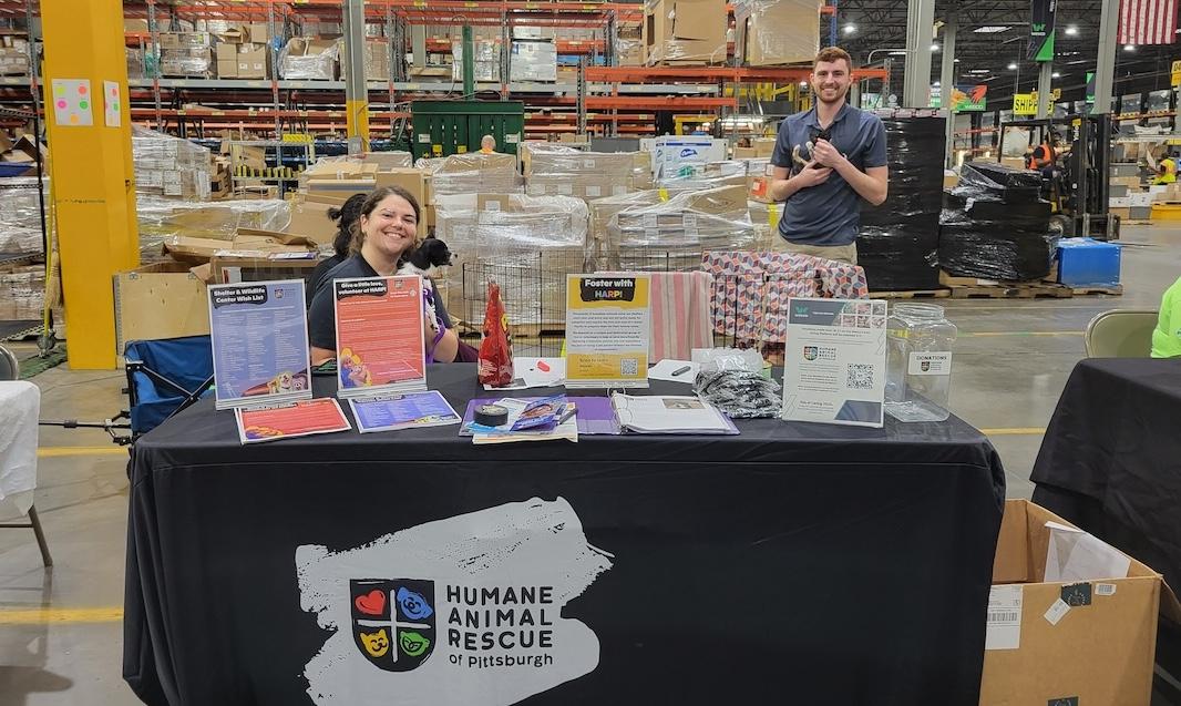
<svg viewBox="0 0 1181 706">
<path fill-rule="evenodd" d="M 418 202 L 402 187 L 383 187 L 366 196 L 360 215 L 353 223 L 353 240 L 350 244 L 352 255 L 327 273 L 325 282 L 396 274 L 404 256 L 422 242 L 418 236 Z M 320 287 L 308 309 L 312 365 L 335 358 L 337 312 L 333 296 L 331 286 Z M 476 349 L 459 341 L 459 336 L 450 328 L 450 318 L 443 302 L 437 298 L 435 307 L 444 327 L 436 334 L 424 319 L 425 353 L 436 362 L 474 362 L 478 357 Z"/>
</svg>

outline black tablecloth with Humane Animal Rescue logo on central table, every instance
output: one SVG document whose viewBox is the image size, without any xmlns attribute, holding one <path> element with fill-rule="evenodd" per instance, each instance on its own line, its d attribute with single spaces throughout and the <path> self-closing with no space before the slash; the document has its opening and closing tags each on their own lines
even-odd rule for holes
<svg viewBox="0 0 1181 706">
<path fill-rule="evenodd" d="M 474 366 L 433 366 L 429 383 L 461 412 L 487 397 Z M 201 403 L 133 450 L 124 676 L 149 704 L 312 702 L 305 665 L 333 633 L 301 609 L 298 548 L 565 498 L 611 554 L 561 612 L 598 636 L 598 665 L 520 702 L 976 706 L 1004 499 L 987 439 L 955 418 L 738 426 L 495 447 L 448 426 L 243 447 L 233 414 Z M 376 695 L 361 693 L 376 667 L 359 669 L 353 693 L 318 702 L 448 704 L 472 678 L 490 680 L 475 701 L 513 702 L 495 669 L 457 666 L 417 701 L 398 686 L 413 671 L 384 672 Z"/>
</svg>

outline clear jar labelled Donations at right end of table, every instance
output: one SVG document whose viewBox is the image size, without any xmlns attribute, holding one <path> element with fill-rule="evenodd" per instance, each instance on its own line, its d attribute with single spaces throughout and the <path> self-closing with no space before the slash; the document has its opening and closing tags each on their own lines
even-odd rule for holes
<svg viewBox="0 0 1181 706">
<path fill-rule="evenodd" d="M 944 307 L 899 303 L 886 327 L 886 412 L 900 421 L 947 419 L 955 325 Z"/>
</svg>

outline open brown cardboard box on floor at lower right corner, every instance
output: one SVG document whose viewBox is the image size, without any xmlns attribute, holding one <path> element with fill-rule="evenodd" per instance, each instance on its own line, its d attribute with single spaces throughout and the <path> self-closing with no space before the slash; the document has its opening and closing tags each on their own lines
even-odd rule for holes
<svg viewBox="0 0 1181 706">
<path fill-rule="evenodd" d="M 1005 503 L 981 706 L 1148 704 L 1157 613 L 1181 616 L 1176 596 L 1160 574 L 1134 558 L 1127 576 L 1044 582 L 1048 522 L 1074 527 L 1027 501 Z M 1062 540 L 1055 544 L 1061 558 L 1075 556 Z"/>
</svg>

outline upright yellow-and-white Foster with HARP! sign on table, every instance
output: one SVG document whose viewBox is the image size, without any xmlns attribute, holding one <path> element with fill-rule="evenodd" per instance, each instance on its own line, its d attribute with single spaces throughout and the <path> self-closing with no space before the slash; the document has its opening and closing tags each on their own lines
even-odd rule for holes
<svg viewBox="0 0 1181 706">
<path fill-rule="evenodd" d="M 566 386 L 647 387 L 648 275 L 568 275 Z"/>
</svg>

